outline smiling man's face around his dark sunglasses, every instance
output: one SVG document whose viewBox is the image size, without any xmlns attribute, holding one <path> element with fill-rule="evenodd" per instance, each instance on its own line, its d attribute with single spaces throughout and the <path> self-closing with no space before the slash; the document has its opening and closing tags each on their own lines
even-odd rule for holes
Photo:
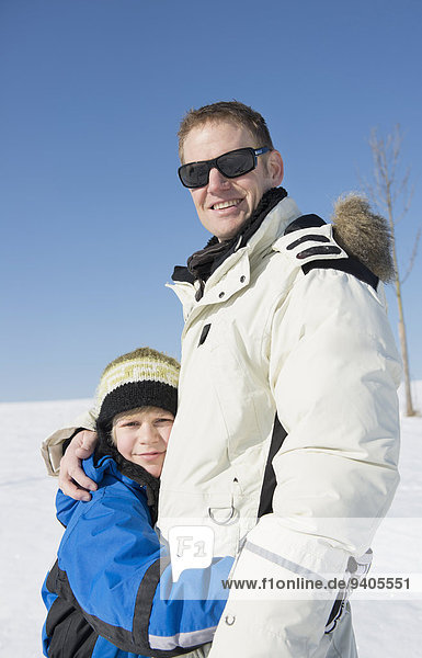
<svg viewBox="0 0 422 658">
<path fill-rule="evenodd" d="M 210 160 L 238 148 L 263 146 L 255 141 L 243 126 L 228 121 L 206 123 L 187 134 L 183 161 Z M 203 226 L 224 241 L 238 232 L 264 192 L 280 185 L 282 179 L 282 158 L 277 151 L 271 151 L 258 158 L 255 169 L 236 179 L 228 179 L 218 169 L 212 169 L 208 184 L 191 190 L 191 194 Z"/>
</svg>

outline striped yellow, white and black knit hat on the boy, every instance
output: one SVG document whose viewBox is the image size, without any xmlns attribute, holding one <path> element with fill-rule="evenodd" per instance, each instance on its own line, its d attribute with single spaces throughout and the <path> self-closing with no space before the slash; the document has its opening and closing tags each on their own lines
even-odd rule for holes
<svg viewBox="0 0 422 658">
<path fill-rule="evenodd" d="M 96 389 L 98 427 L 137 407 L 160 407 L 175 415 L 180 365 L 151 348 L 140 348 L 115 359 L 104 370 Z"/>
</svg>

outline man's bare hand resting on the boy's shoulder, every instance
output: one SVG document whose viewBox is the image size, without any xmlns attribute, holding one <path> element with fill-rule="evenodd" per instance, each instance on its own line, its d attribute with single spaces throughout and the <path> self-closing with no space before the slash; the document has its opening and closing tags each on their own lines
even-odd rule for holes
<svg viewBox="0 0 422 658">
<path fill-rule="evenodd" d="M 89 490 L 96 490 L 96 484 L 82 468 L 82 460 L 92 455 L 96 441 L 96 432 L 82 430 L 73 436 L 61 457 L 58 486 L 66 496 L 75 500 L 91 500 Z"/>
</svg>

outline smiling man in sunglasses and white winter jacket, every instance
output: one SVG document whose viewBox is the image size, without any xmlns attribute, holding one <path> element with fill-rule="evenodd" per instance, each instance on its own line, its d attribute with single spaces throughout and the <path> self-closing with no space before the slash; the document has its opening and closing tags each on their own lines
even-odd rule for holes
<svg viewBox="0 0 422 658">
<path fill-rule="evenodd" d="M 335 239 L 301 216 L 278 188 L 264 120 L 241 103 L 190 112 L 179 136 L 181 181 L 214 237 L 173 274 L 185 328 L 158 524 L 164 536 L 209 525 L 216 555 L 240 551 L 232 578 L 258 583 L 230 591 L 212 658 L 352 658 L 341 588 L 265 588 L 358 572 L 397 487 L 400 365 L 378 280 L 388 236 L 355 197 L 338 208 Z M 47 442 L 50 460 L 73 431 Z M 61 466 L 78 497 L 87 440 L 76 435 Z"/>
</svg>

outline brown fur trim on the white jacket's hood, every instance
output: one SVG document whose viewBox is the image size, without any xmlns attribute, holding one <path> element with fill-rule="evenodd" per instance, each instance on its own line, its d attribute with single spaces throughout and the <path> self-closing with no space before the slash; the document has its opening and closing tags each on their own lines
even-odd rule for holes
<svg viewBox="0 0 422 658">
<path fill-rule="evenodd" d="M 376 215 L 364 196 L 341 196 L 331 219 L 335 240 L 346 253 L 356 257 L 381 281 L 394 280 L 391 231 L 385 217 Z"/>
</svg>

